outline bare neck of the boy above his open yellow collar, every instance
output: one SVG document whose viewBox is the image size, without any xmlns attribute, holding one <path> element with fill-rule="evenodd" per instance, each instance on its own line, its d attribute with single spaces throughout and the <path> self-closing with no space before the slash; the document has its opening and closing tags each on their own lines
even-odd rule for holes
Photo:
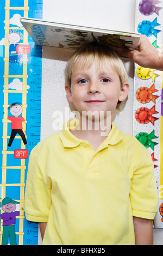
<svg viewBox="0 0 163 256">
<path fill-rule="evenodd" d="M 110 117 L 102 121 L 89 121 L 86 118 L 80 118 L 78 129 L 71 130 L 71 133 L 75 137 L 87 141 L 96 151 L 99 145 L 108 137 L 110 131 Z"/>
</svg>

